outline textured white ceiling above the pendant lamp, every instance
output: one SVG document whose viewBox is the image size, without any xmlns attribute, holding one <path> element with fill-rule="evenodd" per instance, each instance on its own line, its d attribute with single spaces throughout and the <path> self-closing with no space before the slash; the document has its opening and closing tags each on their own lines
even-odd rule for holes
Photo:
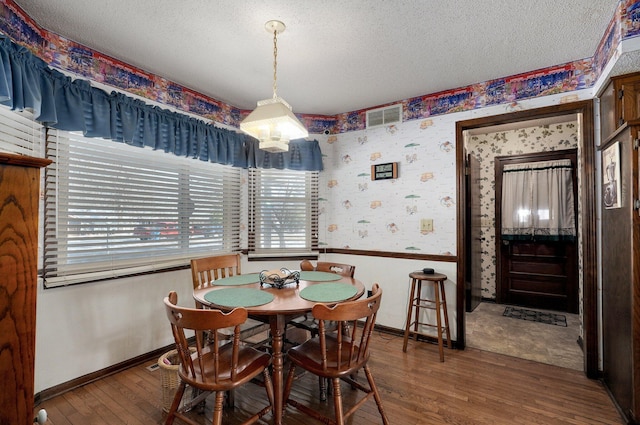
<svg viewBox="0 0 640 425">
<path fill-rule="evenodd" d="M 618 0 L 16 0 L 40 26 L 239 108 L 335 115 L 593 56 Z"/>
</svg>

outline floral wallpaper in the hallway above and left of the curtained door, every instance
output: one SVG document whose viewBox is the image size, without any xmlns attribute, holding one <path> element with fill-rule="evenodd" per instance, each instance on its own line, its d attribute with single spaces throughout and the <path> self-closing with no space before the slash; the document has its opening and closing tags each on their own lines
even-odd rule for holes
<svg viewBox="0 0 640 425">
<path fill-rule="evenodd" d="M 578 148 L 577 122 L 559 123 L 470 136 L 467 151 L 480 162 L 482 297 L 496 298 L 495 169 L 496 156 Z M 578 154 L 578 156 L 580 156 Z M 578 220 L 580 222 L 580 220 Z"/>
</svg>

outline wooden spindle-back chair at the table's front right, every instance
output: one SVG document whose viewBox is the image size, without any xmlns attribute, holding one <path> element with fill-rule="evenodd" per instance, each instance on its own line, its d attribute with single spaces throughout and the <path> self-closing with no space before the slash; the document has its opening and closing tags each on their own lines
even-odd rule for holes
<svg viewBox="0 0 640 425">
<path fill-rule="evenodd" d="M 328 307 L 325 304 L 316 304 L 313 307 L 313 316 L 318 320 L 318 336 L 291 348 L 287 354 L 291 361 L 284 388 L 284 400 L 287 404 L 321 422 L 343 425 L 346 418 L 351 416 L 365 401 L 373 397 L 382 417 L 382 423 L 385 425 L 389 423 L 382 407 L 380 393 L 367 363 L 370 353 L 369 342 L 380 308 L 382 289 L 376 283 L 373 285 L 371 293 L 369 298 L 339 303 L 333 307 Z M 335 331 L 327 331 L 326 325 L 329 322 L 338 324 Z M 348 329 L 348 332 L 345 333 L 344 329 Z M 290 398 L 296 367 L 331 380 L 335 418 L 329 418 Z M 367 377 L 368 388 L 351 378 L 351 375 L 360 369 L 364 370 Z M 365 393 L 365 396 L 355 402 L 346 413 L 344 413 L 342 406 L 342 380 L 349 383 L 352 388 Z"/>
</svg>

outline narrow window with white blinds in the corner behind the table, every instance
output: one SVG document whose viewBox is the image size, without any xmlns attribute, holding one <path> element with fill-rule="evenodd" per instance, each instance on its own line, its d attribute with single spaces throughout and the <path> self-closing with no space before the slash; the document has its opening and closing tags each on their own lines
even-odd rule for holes
<svg viewBox="0 0 640 425">
<path fill-rule="evenodd" d="M 318 172 L 249 170 L 250 255 L 308 255 L 317 235 Z"/>
</svg>

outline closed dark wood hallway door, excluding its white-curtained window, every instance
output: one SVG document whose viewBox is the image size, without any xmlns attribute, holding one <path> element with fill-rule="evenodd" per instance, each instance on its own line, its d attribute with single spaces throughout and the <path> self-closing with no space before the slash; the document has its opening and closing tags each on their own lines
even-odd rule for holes
<svg viewBox="0 0 640 425">
<path fill-rule="evenodd" d="M 523 162 L 570 159 L 576 167 L 577 151 L 541 152 L 496 158 L 496 301 L 524 307 L 578 313 L 578 259 L 575 242 L 501 240 L 502 167 Z M 574 175 L 574 211 L 577 182 Z"/>
</svg>

